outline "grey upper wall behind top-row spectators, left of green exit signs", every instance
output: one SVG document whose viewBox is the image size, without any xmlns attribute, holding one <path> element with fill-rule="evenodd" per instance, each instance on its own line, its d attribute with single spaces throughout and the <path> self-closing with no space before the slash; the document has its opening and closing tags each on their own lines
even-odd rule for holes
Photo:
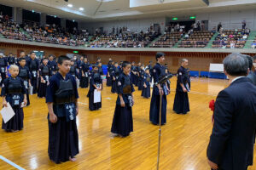
<svg viewBox="0 0 256 170">
<path fill-rule="evenodd" d="M 103 31 L 108 33 L 112 31 L 113 26 L 127 27 L 131 31 L 147 31 L 151 24 L 159 24 L 161 31 L 165 30 L 166 18 L 149 18 L 149 19 L 135 19 L 135 20 L 112 20 L 105 22 L 91 22 L 91 23 L 79 23 L 79 28 L 87 29 L 90 33 L 95 33 L 96 28 L 103 27 Z"/>
</svg>

